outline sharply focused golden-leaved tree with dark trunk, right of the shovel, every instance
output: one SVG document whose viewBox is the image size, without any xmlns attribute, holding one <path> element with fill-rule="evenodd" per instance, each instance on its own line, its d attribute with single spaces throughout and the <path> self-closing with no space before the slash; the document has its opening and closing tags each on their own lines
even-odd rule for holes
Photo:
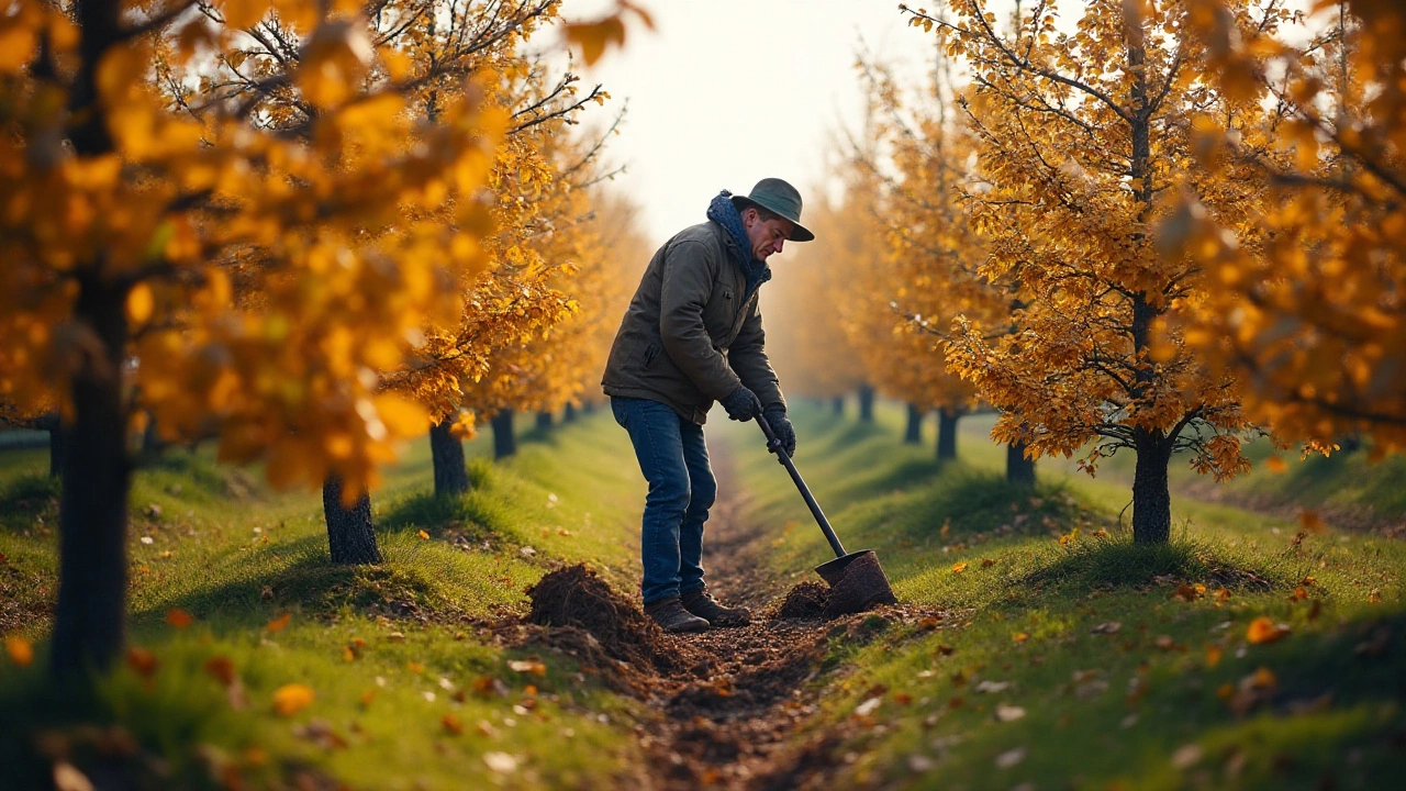
<svg viewBox="0 0 1406 791">
<path fill-rule="evenodd" d="M 969 319 L 949 360 L 1001 410 L 994 436 L 1035 455 L 1091 446 L 1081 466 L 1136 453 L 1133 539 L 1170 538 L 1167 470 L 1177 450 L 1218 479 L 1249 463 L 1253 426 L 1234 380 L 1206 370 L 1171 341 L 1168 314 L 1209 287 L 1191 259 L 1164 258 L 1152 228 L 1163 194 L 1192 190 L 1219 215 L 1257 208 L 1258 180 L 1195 167 L 1198 118 L 1260 128 L 1263 108 L 1201 79 L 1208 55 L 1185 35 L 1180 0 L 1091 0 L 1071 32 L 1053 4 L 994 27 L 984 0 L 950 0 L 950 20 L 922 13 L 972 73 L 965 94 L 990 190 L 973 205 L 988 243 L 984 272 L 1021 283 L 1019 332 L 990 336 Z M 1272 27 L 1278 17 L 1263 17 Z M 1156 352 L 1156 353 L 1154 353 Z"/>
</svg>

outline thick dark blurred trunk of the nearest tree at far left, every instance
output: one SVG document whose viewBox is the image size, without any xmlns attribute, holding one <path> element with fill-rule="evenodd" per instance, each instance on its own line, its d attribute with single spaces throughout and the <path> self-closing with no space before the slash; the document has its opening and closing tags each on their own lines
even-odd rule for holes
<svg viewBox="0 0 1406 791">
<path fill-rule="evenodd" d="M 90 669 L 121 654 L 127 616 L 127 449 L 122 360 L 127 287 L 80 277 L 75 317 L 93 329 L 101 355 L 84 355 L 73 376 L 73 424 L 59 432 L 59 601 L 53 614 L 53 676 L 83 687 Z"/>
</svg>

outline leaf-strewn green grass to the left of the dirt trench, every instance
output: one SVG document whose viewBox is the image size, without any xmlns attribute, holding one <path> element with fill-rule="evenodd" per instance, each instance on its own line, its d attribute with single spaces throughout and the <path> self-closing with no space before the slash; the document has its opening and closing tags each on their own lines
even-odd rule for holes
<svg viewBox="0 0 1406 791">
<path fill-rule="evenodd" d="M 634 704 L 582 684 L 558 654 L 495 647 L 482 631 L 482 619 L 520 611 L 524 587 L 553 563 L 591 562 L 628 590 L 643 490 L 638 472 L 619 463 L 628 441 L 595 418 L 529 434 L 499 464 L 485 445 L 467 445 L 474 487 L 451 500 L 430 494 L 427 442 L 406 449 L 373 494 L 385 556 L 377 567 L 330 564 L 316 493 L 269 491 L 257 470 L 215 464 L 205 450 L 139 470 L 129 645 L 157 667 L 142 676 L 122 664 L 82 705 L 42 684 L 58 487 L 38 474 L 42 456 L 22 452 L 25 466 L 4 455 L 6 612 L 18 602 L 4 631 L 37 640 L 39 654 L 24 669 L 0 659 L 7 783 L 39 785 L 63 757 L 94 778 L 114 771 L 149 788 L 219 787 L 226 773 L 253 787 L 309 774 L 370 788 L 633 777 L 637 747 L 617 722 Z M 194 624 L 174 628 L 173 609 Z M 205 670 L 214 657 L 235 669 L 238 700 Z M 544 674 L 508 666 L 523 659 L 543 660 Z M 316 700 L 281 716 L 273 695 L 285 684 Z M 492 768 L 492 753 L 516 768 Z"/>
</svg>

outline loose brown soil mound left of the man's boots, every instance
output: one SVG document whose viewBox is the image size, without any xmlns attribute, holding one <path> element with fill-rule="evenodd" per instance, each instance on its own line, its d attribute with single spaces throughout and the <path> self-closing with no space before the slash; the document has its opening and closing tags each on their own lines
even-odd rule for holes
<svg viewBox="0 0 1406 791">
<path fill-rule="evenodd" d="M 582 629 L 619 662 L 679 670 L 683 657 L 665 642 L 664 631 L 583 564 L 548 573 L 527 588 L 527 621 L 533 624 Z"/>
</svg>

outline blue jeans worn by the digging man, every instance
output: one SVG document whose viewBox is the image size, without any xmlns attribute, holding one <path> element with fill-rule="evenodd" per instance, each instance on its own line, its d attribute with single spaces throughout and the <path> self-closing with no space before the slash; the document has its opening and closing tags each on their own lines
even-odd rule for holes
<svg viewBox="0 0 1406 791">
<path fill-rule="evenodd" d="M 650 481 L 640 529 L 644 602 L 703 587 L 703 522 L 717 498 L 703 426 L 647 398 L 610 398 Z"/>
</svg>

